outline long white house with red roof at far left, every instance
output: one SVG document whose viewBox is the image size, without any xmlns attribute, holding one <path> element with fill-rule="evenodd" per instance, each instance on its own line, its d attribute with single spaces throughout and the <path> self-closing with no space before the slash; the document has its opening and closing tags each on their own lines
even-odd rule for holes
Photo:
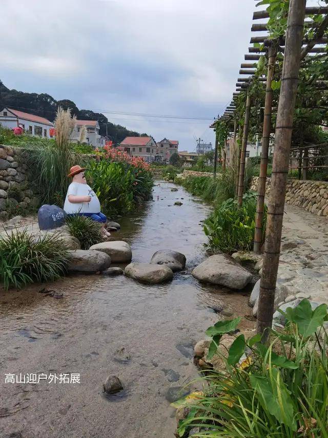
<svg viewBox="0 0 328 438">
<path fill-rule="evenodd" d="M 10 108 L 0 111 L 0 125 L 9 129 L 22 125 L 28 134 L 48 138 L 51 137 L 50 129 L 53 128 L 53 124 L 44 117 Z"/>
</svg>

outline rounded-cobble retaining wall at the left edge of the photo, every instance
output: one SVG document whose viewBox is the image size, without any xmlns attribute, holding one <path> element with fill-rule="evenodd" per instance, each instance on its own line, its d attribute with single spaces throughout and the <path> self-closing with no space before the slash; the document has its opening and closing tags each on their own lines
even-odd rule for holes
<svg viewBox="0 0 328 438">
<path fill-rule="evenodd" d="M 27 170 L 24 149 L 0 145 L 0 220 L 38 205 Z"/>
</svg>

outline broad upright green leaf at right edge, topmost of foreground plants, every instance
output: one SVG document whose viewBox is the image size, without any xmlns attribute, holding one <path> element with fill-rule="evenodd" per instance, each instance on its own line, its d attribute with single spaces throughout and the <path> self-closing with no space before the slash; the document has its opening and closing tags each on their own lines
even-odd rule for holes
<svg viewBox="0 0 328 438">
<path fill-rule="evenodd" d="M 295 309 L 291 307 L 286 309 L 286 318 L 295 322 L 299 333 L 304 337 L 309 337 L 315 333 L 318 327 L 321 327 L 327 317 L 327 304 L 320 304 L 312 311 L 311 303 L 303 299 Z"/>
</svg>

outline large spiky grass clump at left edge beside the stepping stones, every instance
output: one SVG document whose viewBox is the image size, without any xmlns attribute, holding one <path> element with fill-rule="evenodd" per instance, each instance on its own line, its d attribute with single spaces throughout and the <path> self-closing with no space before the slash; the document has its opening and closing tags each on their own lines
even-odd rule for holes
<svg viewBox="0 0 328 438">
<path fill-rule="evenodd" d="M 35 238 L 23 230 L 0 236 L 0 282 L 8 290 L 53 281 L 66 273 L 68 254 L 56 235 Z"/>
</svg>

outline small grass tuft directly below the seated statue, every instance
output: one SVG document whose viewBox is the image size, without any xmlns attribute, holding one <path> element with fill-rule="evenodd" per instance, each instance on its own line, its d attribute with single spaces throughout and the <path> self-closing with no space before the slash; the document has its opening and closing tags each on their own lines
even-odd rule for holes
<svg viewBox="0 0 328 438">
<path fill-rule="evenodd" d="M 88 250 L 90 246 L 104 240 L 101 225 L 86 216 L 66 216 L 66 224 L 70 234 L 79 240 L 83 250 Z"/>
</svg>

